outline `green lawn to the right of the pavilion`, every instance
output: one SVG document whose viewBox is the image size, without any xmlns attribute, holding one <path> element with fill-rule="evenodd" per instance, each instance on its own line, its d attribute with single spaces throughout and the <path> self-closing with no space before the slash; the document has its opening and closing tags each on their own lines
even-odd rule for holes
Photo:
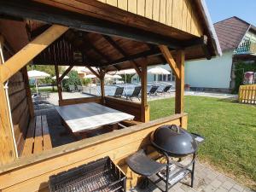
<svg viewBox="0 0 256 192">
<path fill-rule="evenodd" d="M 150 119 L 174 112 L 174 98 L 149 102 Z M 206 137 L 199 157 L 256 188 L 256 106 L 226 99 L 185 97 L 189 131 Z M 254 182 L 253 182 L 254 181 Z"/>
</svg>

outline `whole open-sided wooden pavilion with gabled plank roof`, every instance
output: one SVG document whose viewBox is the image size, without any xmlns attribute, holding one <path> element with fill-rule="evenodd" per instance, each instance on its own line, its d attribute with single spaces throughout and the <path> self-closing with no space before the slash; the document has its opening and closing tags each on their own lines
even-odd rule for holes
<svg viewBox="0 0 256 192">
<path fill-rule="evenodd" d="M 106 155 L 125 172 L 128 187 L 136 184 L 137 175 L 125 158 L 143 148 L 158 126 L 187 127 L 184 61 L 221 55 L 203 0 L 1 0 L 0 41 L 1 191 L 48 191 L 50 175 Z M 175 114 L 149 121 L 147 67 L 160 63 L 168 63 L 176 75 Z M 131 113 L 143 123 L 20 155 L 34 120 L 28 64 L 55 65 L 56 77 L 58 66 L 68 66 L 57 79 L 60 106 L 96 102 Z M 61 81 L 73 66 L 88 67 L 101 79 L 101 96 L 62 98 Z M 141 79 L 141 103 L 105 96 L 104 75 L 128 68 L 135 68 Z M 43 131 L 44 139 L 49 135 L 44 138 Z"/>
</svg>

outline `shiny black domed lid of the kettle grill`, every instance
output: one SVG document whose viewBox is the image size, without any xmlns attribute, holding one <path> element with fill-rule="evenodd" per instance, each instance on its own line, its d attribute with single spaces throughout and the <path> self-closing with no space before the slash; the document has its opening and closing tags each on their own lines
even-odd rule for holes
<svg viewBox="0 0 256 192">
<path fill-rule="evenodd" d="M 155 148 L 173 157 L 194 154 L 197 150 L 195 138 L 177 125 L 160 126 L 151 134 L 150 141 Z"/>
</svg>

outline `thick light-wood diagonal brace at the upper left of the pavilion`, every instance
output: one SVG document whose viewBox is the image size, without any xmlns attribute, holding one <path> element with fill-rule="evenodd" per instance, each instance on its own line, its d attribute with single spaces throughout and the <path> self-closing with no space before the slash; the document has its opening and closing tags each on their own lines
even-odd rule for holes
<svg viewBox="0 0 256 192">
<path fill-rule="evenodd" d="M 22 67 L 26 66 L 29 61 L 32 61 L 35 56 L 47 48 L 49 44 L 53 43 L 55 39 L 60 38 L 64 32 L 67 32 L 67 29 L 67 26 L 53 25 L 24 48 L 20 49 L 18 53 L 0 66 L 1 82 L 4 83 Z"/>
</svg>

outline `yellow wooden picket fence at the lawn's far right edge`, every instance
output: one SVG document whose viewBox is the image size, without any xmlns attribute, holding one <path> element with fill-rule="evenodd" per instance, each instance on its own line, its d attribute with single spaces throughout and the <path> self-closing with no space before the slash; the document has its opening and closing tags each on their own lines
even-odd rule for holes
<svg viewBox="0 0 256 192">
<path fill-rule="evenodd" d="M 238 99 L 242 103 L 256 104 L 256 84 L 241 85 Z"/>
</svg>

